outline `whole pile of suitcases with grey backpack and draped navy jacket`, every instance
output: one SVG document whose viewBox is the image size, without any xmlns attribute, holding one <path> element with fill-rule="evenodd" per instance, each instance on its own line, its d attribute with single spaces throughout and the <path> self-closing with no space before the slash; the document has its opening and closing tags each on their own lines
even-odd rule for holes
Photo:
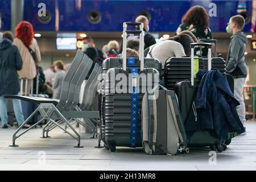
<svg viewBox="0 0 256 182">
<path fill-rule="evenodd" d="M 127 30 L 127 26 L 140 28 Z M 143 24 L 123 23 L 123 50 L 127 34 L 139 34 L 139 57 L 126 57 L 123 51 L 122 57 L 108 58 L 102 64 L 100 121 L 105 148 L 114 152 L 117 146 L 143 147 L 146 154 L 171 155 L 188 153 L 188 147 L 226 150 L 231 138 L 241 134 L 243 127 L 232 97 L 234 80 L 225 74 L 225 61 L 211 57 L 212 44 L 193 43 L 191 57 L 172 57 L 162 69 L 159 60 L 144 59 Z M 208 47 L 208 59 L 194 57 L 196 46 Z M 159 85 L 163 79 L 164 86 Z M 222 90 L 217 87 L 220 80 L 225 87 Z M 216 98 L 227 98 L 227 103 L 203 94 L 202 105 L 198 97 L 205 88 L 207 93 L 214 90 Z M 216 110 L 213 107 L 224 104 L 234 118 L 228 118 L 228 122 L 211 115 Z M 203 118 L 207 111 L 209 118 Z"/>
</svg>

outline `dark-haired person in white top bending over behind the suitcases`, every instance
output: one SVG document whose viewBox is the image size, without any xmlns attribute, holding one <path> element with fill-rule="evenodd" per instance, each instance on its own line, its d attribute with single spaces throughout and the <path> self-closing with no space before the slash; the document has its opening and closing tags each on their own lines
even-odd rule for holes
<svg viewBox="0 0 256 182">
<path fill-rule="evenodd" d="M 170 57 L 182 57 L 191 54 L 190 44 L 194 43 L 191 36 L 179 34 L 172 38 L 159 40 L 158 43 L 150 46 L 147 57 L 153 57 L 164 62 Z"/>
</svg>

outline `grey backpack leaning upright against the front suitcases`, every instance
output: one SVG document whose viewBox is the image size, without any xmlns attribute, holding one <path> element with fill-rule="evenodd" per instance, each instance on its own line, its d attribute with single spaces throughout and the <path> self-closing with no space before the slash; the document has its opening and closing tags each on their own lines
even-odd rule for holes
<svg viewBox="0 0 256 182">
<path fill-rule="evenodd" d="M 158 86 L 158 85 L 156 85 Z M 183 119 L 172 90 L 147 91 L 142 100 L 142 142 L 146 154 L 189 152 Z"/>
</svg>

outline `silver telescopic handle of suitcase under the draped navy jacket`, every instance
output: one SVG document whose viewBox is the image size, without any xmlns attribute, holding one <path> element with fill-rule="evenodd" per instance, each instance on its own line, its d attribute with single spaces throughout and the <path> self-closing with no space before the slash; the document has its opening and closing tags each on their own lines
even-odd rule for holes
<svg viewBox="0 0 256 182">
<path fill-rule="evenodd" d="M 194 85 L 194 48 L 196 46 L 208 47 L 208 71 L 212 69 L 212 44 L 204 42 L 191 43 L 191 85 Z"/>
</svg>

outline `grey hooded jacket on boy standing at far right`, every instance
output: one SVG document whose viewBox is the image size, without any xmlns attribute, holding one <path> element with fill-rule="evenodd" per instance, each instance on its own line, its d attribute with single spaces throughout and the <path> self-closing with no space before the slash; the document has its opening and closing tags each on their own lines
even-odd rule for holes
<svg viewBox="0 0 256 182">
<path fill-rule="evenodd" d="M 239 31 L 231 37 L 229 44 L 226 72 L 234 78 L 246 78 L 247 66 L 245 63 L 245 48 L 247 38 L 243 32 Z"/>
</svg>

